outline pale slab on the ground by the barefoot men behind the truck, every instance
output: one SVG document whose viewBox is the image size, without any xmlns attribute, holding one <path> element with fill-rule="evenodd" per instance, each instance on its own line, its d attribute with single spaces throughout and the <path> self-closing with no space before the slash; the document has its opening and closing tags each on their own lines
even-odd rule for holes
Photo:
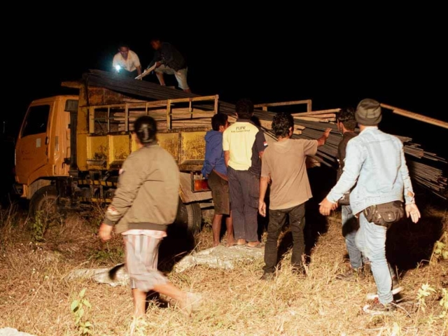
<svg viewBox="0 0 448 336">
<path fill-rule="evenodd" d="M 253 261 L 262 258 L 264 254 L 265 248 L 250 248 L 246 246 L 225 247 L 219 245 L 187 255 L 176 264 L 174 269 L 178 273 L 196 265 L 233 269 L 236 261 Z"/>
</svg>

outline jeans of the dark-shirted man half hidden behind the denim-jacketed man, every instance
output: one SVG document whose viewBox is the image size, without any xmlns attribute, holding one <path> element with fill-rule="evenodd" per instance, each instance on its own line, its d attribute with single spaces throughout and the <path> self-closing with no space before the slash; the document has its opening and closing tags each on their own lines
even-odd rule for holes
<svg viewBox="0 0 448 336">
<path fill-rule="evenodd" d="M 353 269 L 358 269 L 367 262 L 367 258 L 356 247 L 355 237 L 358 232 L 358 219 L 353 215 L 349 205 L 342 205 L 342 235 L 345 238 L 347 252 L 349 252 L 350 265 Z"/>
</svg>

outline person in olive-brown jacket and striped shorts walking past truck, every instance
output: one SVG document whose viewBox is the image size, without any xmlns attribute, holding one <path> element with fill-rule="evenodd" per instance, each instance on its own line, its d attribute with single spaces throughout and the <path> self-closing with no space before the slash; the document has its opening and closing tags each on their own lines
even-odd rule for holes
<svg viewBox="0 0 448 336">
<path fill-rule="evenodd" d="M 158 146 L 156 133 L 156 122 L 150 116 L 135 121 L 133 136 L 137 136 L 139 149 L 123 163 L 118 188 L 99 228 L 103 241 L 111 239 L 114 226 L 116 233 L 123 235 L 136 318 L 144 316 L 150 290 L 174 298 L 187 314 L 201 300 L 200 295 L 183 292 L 158 271 L 158 249 L 167 236 L 167 226 L 176 218 L 180 180 L 176 161 Z"/>
</svg>

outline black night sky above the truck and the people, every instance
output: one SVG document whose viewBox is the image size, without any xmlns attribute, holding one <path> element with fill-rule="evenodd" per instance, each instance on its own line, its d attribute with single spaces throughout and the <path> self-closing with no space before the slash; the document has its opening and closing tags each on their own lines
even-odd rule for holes
<svg viewBox="0 0 448 336">
<path fill-rule="evenodd" d="M 71 93 L 60 86 L 63 80 L 111 69 L 121 41 L 146 68 L 153 36 L 186 55 L 196 94 L 219 94 L 231 103 L 241 97 L 255 104 L 313 99 L 314 110 L 356 106 L 368 97 L 448 121 L 443 13 L 434 5 L 367 3 L 13 4 L 5 12 L 11 20 L 1 23 L 1 121 L 15 138 L 32 99 Z M 167 85 L 175 85 L 170 79 Z M 154 75 L 145 80 L 158 83 Z M 380 126 L 448 157 L 446 129 L 387 110 Z M 13 160 L 5 153 L 2 158 Z"/>
</svg>

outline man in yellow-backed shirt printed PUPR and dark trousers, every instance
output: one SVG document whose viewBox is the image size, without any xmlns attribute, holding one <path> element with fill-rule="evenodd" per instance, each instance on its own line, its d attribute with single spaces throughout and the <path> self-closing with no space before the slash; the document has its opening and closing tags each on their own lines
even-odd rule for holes
<svg viewBox="0 0 448 336">
<path fill-rule="evenodd" d="M 230 208 L 237 245 L 260 247 L 258 240 L 258 197 L 260 195 L 261 158 L 267 142 L 256 126 L 253 103 L 240 99 L 235 105 L 237 122 L 223 133 L 225 165 L 228 167 Z"/>
</svg>

